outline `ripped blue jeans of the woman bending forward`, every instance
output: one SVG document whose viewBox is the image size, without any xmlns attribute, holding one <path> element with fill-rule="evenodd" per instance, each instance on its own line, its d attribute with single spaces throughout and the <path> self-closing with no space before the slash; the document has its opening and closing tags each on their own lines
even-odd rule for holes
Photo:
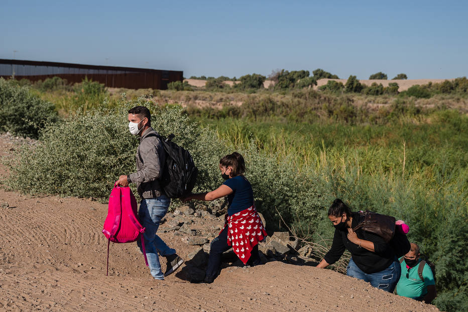
<svg viewBox="0 0 468 312">
<path fill-rule="evenodd" d="M 401 276 L 401 266 L 400 263 L 395 260 L 386 269 L 380 272 L 367 274 L 364 273 L 353 261 L 353 258 L 351 258 L 346 267 L 346 275 L 356 277 L 357 279 L 363 279 L 376 288 L 393 292 Z"/>
</svg>

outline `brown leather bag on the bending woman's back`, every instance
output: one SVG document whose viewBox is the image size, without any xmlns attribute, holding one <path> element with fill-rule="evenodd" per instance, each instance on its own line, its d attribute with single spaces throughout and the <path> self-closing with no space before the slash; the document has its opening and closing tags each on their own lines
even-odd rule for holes
<svg viewBox="0 0 468 312">
<path fill-rule="evenodd" d="M 353 231 L 363 229 L 379 235 L 386 243 L 389 243 L 395 235 L 395 218 L 386 215 L 376 214 L 370 211 L 359 212 L 364 216 L 364 221 L 358 224 Z"/>
</svg>

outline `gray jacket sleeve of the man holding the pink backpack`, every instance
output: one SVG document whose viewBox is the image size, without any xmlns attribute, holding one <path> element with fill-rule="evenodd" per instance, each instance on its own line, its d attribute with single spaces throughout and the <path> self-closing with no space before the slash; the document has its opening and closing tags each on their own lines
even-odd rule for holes
<svg viewBox="0 0 468 312">
<path fill-rule="evenodd" d="M 139 155 L 143 162 L 142 167 L 130 174 L 132 182 L 151 182 L 161 177 L 161 142 L 157 138 L 144 139 L 139 147 Z"/>
</svg>

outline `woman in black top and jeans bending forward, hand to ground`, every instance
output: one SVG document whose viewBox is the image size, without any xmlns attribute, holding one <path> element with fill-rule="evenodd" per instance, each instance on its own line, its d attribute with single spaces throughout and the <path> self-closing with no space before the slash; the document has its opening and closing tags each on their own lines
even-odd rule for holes
<svg viewBox="0 0 468 312">
<path fill-rule="evenodd" d="M 346 275 L 363 279 L 372 286 L 393 292 L 400 279 L 401 267 L 392 247 L 384 239 L 362 229 L 353 228 L 363 222 L 364 216 L 352 213 L 336 198 L 328 209 L 328 219 L 335 227 L 330 250 L 317 265 L 318 268 L 335 263 L 347 249 L 351 259 Z"/>
</svg>

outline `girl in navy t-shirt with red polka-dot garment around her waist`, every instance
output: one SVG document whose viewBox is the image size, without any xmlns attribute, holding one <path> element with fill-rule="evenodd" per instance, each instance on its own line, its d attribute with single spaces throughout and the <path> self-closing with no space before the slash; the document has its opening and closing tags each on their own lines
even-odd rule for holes
<svg viewBox="0 0 468 312">
<path fill-rule="evenodd" d="M 208 266 L 204 282 L 212 283 L 221 264 L 221 254 L 232 247 L 244 265 L 260 264 L 258 243 L 265 240 L 267 232 L 254 205 L 252 185 L 243 175 L 246 170 L 244 158 L 234 152 L 219 160 L 219 170 L 225 180 L 213 191 L 190 194 L 183 201 L 214 200 L 227 196 L 227 214 L 224 228 L 210 246 Z"/>
</svg>

